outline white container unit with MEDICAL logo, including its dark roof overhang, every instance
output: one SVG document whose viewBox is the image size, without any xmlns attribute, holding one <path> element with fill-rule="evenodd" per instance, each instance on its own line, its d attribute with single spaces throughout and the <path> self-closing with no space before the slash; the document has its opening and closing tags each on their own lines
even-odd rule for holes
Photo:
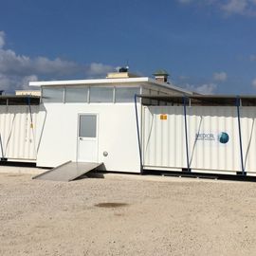
<svg viewBox="0 0 256 256">
<path fill-rule="evenodd" d="M 142 98 L 143 170 L 256 175 L 255 97 Z"/>
</svg>

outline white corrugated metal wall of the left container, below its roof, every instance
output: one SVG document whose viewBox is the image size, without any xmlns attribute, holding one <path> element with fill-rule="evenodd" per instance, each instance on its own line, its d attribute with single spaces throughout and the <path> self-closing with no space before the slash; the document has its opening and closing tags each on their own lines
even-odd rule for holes
<svg viewBox="0 0 256 256">
<path fill-rule="evenodd" d="M 9 160 L 36 159 L 38 107 L 31 106 L 30 113 L 27 105 L 0 106 L 0 134 L 4 157 Z M 1 151 L 0 155 L 2 156 Z"/>
</svg>

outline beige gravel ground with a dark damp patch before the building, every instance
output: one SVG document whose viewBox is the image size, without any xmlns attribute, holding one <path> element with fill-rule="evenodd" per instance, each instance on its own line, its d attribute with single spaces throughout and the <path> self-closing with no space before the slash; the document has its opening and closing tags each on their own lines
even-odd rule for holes
<svg viewBox="0 0 256 256">
<path fill-rule="evenodd" d="M 0 255 L 255 255 L 256 183 L 0 174 L 0 227 Z"/>
</svg>

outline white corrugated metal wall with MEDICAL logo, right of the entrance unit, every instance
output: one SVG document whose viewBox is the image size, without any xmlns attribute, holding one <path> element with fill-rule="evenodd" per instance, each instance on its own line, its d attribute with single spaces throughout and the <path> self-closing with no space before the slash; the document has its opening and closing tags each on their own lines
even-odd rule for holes
<svg viewBox="0 0 256 256">
<path fill-rule="evenodd" d="M 145 168 L 187 168 L 183 106 L 144 107 L 143 113 Z M 256 174 L 256 108 L 240 113 L 245 169 Z M 236 107 L 187 107 L 187 128 L 191 169 L 242 171 Z"/>
</svg>

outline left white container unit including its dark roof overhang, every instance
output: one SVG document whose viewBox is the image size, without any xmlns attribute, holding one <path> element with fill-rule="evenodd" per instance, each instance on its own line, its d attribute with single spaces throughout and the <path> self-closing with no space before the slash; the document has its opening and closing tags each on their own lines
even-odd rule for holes
<svg viewBox="0 0 256 256">
<path fill-rule="evenodd" d="M 0 97 L 0 155 L 2 161 L 36 162 L 39 97 Z"/>
</svg>

